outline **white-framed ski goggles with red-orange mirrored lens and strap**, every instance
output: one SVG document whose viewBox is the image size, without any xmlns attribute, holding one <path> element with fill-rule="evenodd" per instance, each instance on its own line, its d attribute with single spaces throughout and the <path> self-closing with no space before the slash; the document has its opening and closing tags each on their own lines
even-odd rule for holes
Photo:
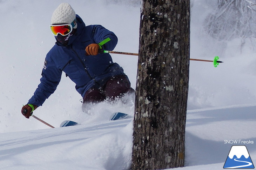
<svg viewBox="0 0 256 170">
<path fill-rule="evenodd" d="M 50 25 L 50 30 L 54 36 L 57 36 L 58 34 L 66 36 L 72 32 L 75 25 L 76 19 L 71 24 Z"/>
</svg>

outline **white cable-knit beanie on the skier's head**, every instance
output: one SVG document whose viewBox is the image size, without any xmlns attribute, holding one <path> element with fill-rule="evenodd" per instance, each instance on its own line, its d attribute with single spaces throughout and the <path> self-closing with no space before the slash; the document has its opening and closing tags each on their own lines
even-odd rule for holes
<svg viewBox="0 0 256 170">
<path fill-rule="evenodd" d="M 68 3 L 61 3 L 53 12 L 51 24 L 71 24 L 74 20 L 74 9 Z"/>
</svg>

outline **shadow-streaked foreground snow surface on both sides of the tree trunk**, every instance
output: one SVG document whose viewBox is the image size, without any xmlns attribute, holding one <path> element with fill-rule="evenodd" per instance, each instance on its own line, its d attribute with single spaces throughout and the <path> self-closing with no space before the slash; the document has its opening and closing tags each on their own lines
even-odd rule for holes
<svg viewBox="0 0 256 170">
<path fill-rule="evenodd" d="M 104 104 L 108 106 L 107 104 Z M 256 162 L 256 105 L 189 110 L 184 170 L 222 169 L 231 143 L 246 145 Z M 99 117 L 99 116 L 98 116 Z M 1 169 L 129 169 L 132 119 L 0 134 Z"/>
</svg>

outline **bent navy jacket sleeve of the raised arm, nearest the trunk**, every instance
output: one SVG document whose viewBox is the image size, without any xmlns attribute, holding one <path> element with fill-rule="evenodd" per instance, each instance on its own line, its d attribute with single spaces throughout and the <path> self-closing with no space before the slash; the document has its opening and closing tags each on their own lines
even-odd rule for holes
<svg viewBox="0 0 256 170">
<path fill-rule="evenodd" d="M 100 42 L 102 42 L 103 40 L 110 38 L 110 41 L 105 43 L 102 46 L 103 50 L 108 50 L 108 51 L 112 51 L 114 50 L 116 44 L 117 44 L 117 37 L 114 34 L 114 32 L 109 31 L 108 29 L 102 27 L 101 25 L 95 25 L 94 29 L 93 29 L 93 38 L 94 41 L 99 44 Z"/>
</svg>

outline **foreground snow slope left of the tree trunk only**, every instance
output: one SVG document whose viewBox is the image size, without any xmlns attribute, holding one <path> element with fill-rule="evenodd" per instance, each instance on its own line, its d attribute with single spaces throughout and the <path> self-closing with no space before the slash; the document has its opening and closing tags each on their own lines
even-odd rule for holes
<svg viewBox="0 0 256 170">
<path fill-rule="evenodd" d="M 130 119 L 1 133 L 0 169 L 128 169 L 131 136 Z"/>
</svg>

